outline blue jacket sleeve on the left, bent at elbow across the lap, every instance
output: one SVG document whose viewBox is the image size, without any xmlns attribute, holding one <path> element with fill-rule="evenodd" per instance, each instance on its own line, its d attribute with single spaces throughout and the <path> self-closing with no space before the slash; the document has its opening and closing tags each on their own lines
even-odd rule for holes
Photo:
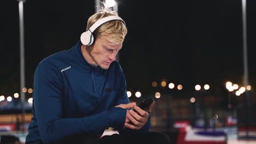
<svg viewBox="0 0 256 144">
<path fill-rule="evenodd" d="M 113 117 L 114 113 L 124 113 L 124 109 L 120 107 L 88 117 L 63 118 L 62 90 L 61 71 L 47 61 L 41 62 L 34 74 L 33 105 L 40 137 L 44 143 L 53 143 L 68 135 L 96 133 L 108 127 L 123 126 L 123 119 Z M 104 121 L 95 123 L 95 119 Z"/>
</svg>

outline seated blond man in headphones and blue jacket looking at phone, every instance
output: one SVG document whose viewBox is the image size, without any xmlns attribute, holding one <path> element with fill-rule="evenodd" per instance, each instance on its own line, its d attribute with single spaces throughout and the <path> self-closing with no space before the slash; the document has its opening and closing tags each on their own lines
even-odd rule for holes
<svg viewBox="0 0 256 144">
<path fill-rule="evenodd" d="M 126 33 L 118 14 L 103 8 L 89 18 L 72 49 L 39 63 L 26 143 L 125 143 L 154 136 L 168 141 L 147 133 L 154 103 L 144 111 L 127 97 L 125 76 L 115 61 Z M 100 138 L 109 127 L 120 135 Z"/>
</svg>

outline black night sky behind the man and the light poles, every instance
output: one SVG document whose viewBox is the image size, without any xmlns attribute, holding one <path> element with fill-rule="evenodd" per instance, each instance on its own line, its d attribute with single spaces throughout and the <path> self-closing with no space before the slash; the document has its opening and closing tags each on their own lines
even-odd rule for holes
<svg viewBox="0 0 256 144">
<path fill-rule="evenodd" d="M 150 91 L 166 80 L 193 91 L 195 84 L 242 85 L 242 9 L 238 0 L 118 1 L 128 34 L 120 64 L 130 91 Z M 249 84 L 256 84 L 256 1 L 247 1 Z M 20 87 L 18 2 L 1 4 L 0 95 Z M 94 1 L 30 1 L 24 4 L 26 87 L 43 58 L 71 49 L 95 13 Z"/>
</svg>

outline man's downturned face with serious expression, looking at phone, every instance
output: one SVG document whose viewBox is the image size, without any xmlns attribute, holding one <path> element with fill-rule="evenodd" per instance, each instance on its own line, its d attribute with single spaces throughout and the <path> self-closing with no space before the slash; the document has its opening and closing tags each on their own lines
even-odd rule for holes
<svg viewBox="0 0 256 144">
<path fill-rule="evenodd" d="M 109 65 L 115 61 L 118 51 L 123 44 L 115 45 L 107 41 L 107 36 L 98 35 L 90 52 L 91 57 L 102 69 L 108 69 Z"/>
</svg>

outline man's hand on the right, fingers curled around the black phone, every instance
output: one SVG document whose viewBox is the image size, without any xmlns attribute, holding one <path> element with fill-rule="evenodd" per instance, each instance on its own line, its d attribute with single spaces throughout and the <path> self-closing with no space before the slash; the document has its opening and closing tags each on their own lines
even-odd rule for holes
<svg viewBox="0 0 256 144">
<path fill-rule="evenodd" d="M 129 110 L 126 113 L 126 119 L 129 121 L 125 121 L 124 128 L 130 128 L 130 129 L 141 129 L 147 122 L 148 122 L 148 117 L 149 113 L 152 111 L 152 107 L 154 105 L 155 101 L 153 101 L 152 104 L 148 107 L 146 111 L 143 111 L 141 108 L 138 106 L 134 106 L 133 109 L 135 109 L 137 112 L 133 110 Z M 148 111 L 148 112 L 147 112 Z M 129 123 L 132 122 L 133 124 Z"/>
</svg>

